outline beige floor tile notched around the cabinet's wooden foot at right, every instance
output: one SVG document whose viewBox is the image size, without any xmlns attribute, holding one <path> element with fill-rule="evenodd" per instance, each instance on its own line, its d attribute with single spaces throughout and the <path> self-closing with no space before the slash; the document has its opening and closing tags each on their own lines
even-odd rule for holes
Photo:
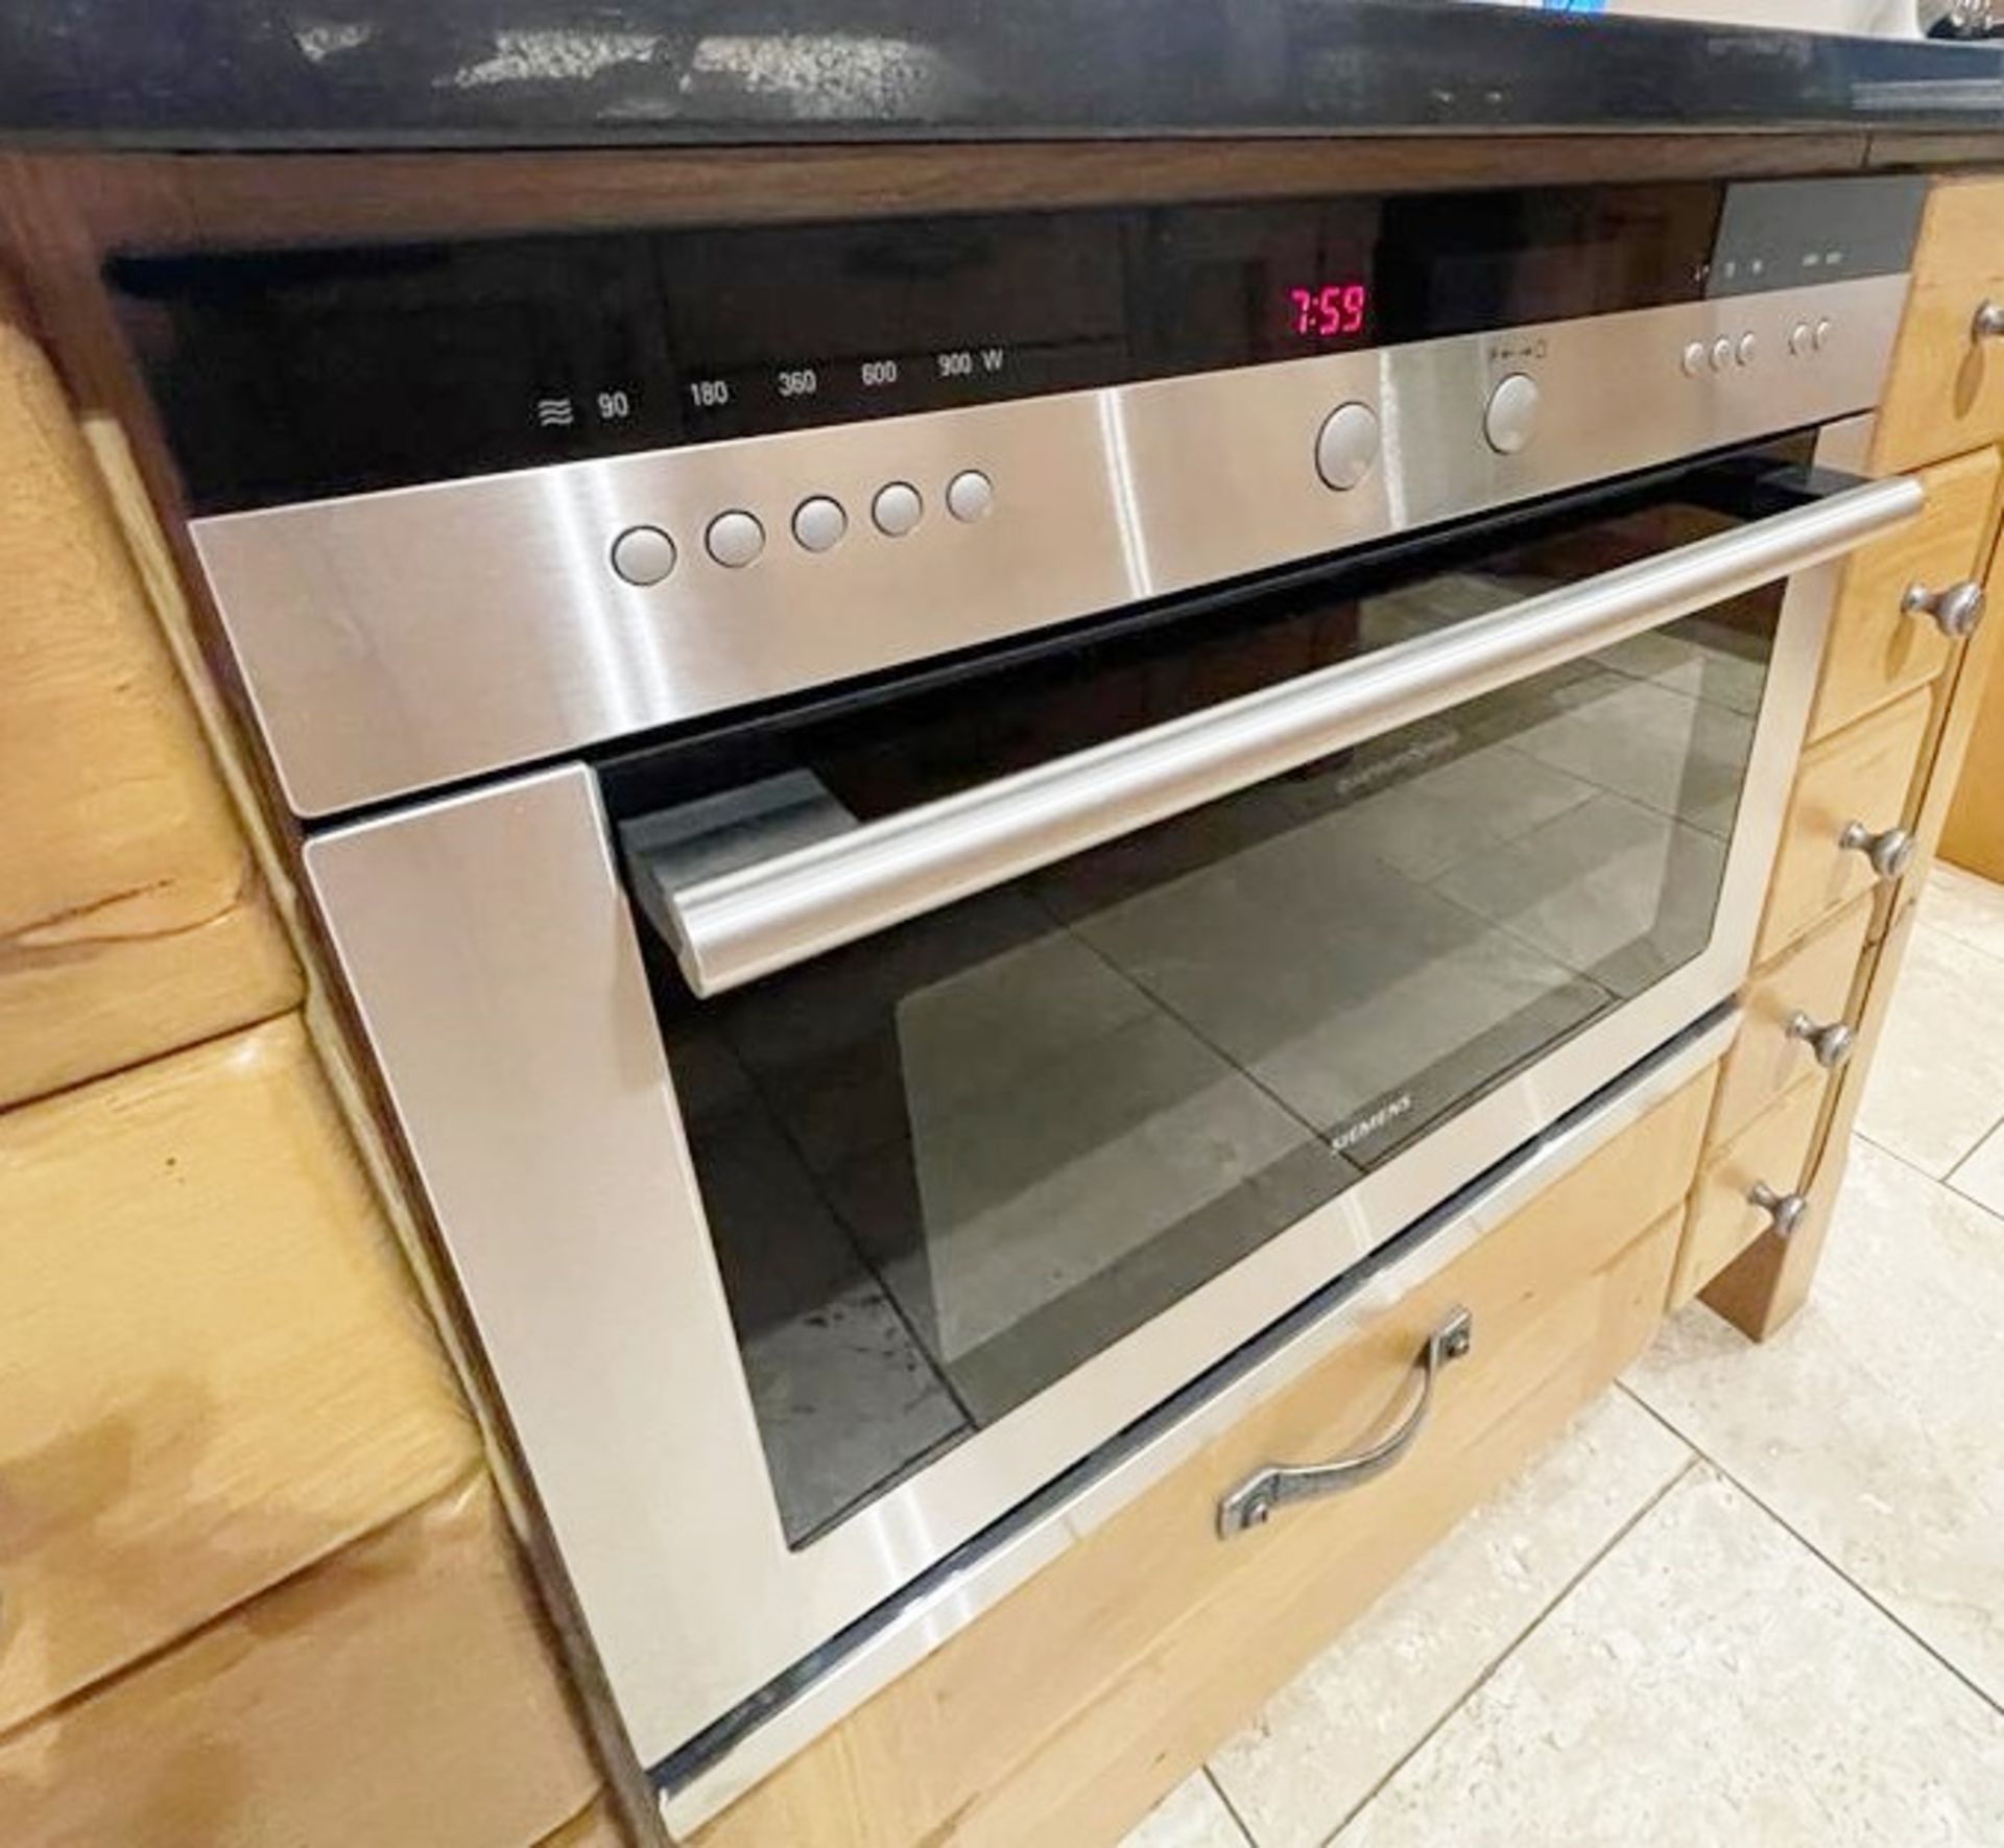
<svg viewBox="0 0 2004 1848">
<path fill-rule="evenodd" d="M 1802 1315 L 1751 1347 L 1691 1307 L 1627 1383 L 2004 1702 L 2000 1325 L 2004 1221 L 1854 1142 Z"/>
</svg>

